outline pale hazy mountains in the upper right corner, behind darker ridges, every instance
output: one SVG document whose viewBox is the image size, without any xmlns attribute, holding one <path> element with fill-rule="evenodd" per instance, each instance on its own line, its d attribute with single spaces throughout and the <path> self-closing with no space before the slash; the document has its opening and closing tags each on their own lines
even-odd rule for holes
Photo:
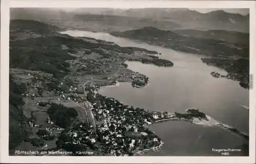
<svg viewBox="0 0 256 164">
<path fill-rule="evenodd" d="M 140 16 L 139 13 L 136 15 Z M 212 11 L 209 13 L 200 13 L 193 10 L 168 11 L 163 9 L 161 14 L 155 14 L 154 16 L 152 13 L 150 18 L 164 21 L 173 21 L 186 29 L 227 30 L 246 33 L 249 32 L 249 16 L 227 13 L 223 10 Z"/>
</svg>

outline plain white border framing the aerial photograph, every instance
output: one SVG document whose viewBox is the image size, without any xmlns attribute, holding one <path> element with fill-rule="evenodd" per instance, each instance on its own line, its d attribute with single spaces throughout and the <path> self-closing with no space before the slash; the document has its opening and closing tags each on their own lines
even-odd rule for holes
<svg viewBox="0 0 256 164">
<path fill-rule="evenodd" d="M 255 87 L 250 90 L 249 157 L 71 157 L 9 156 L 9 10 L 10 7 L 47 8 L 250 8 L 250 74 L 256 81 L 255 1 L 1 1 L 1 149 L 0 162 L 8 163 L 255 163 Z"/>
</svg>

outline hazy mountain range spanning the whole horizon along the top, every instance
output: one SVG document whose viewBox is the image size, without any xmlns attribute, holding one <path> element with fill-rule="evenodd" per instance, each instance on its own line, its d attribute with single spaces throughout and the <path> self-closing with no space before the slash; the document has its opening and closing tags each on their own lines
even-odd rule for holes
<svg viewBox="0 0 256 164">
<path fill-rule="evenodd" d="M 102 18 L 99 19 L 99 22 L 102 24 L 108 25 L 110 22 L 114 22 L 115 26 L 133 25 L 135 29 L 162 23 L 163 25 L 159 25 L 156 28 L 162 30 L 197 29 L 249 32 L 249 14 L 227 13 L 223 10 L 200 13 L 186 8 L 78 8 L 69 11 L 49 8 L 11 9 L 11 19 L 84 21 L 84 18 L 81 18 L 82 15 L 84 17 L 88 17 L 88 15 L 100 15 L 104 18 L 104 20 Z M 93 21 L 97 22 L 97 19 Z M 131 21 L 132 24 L 130 24 Z M 135 22 L 137 26 L 135 26 Z M 163 28 L 164 26 L 166 26 L 165 29 Z"/>
</svg>

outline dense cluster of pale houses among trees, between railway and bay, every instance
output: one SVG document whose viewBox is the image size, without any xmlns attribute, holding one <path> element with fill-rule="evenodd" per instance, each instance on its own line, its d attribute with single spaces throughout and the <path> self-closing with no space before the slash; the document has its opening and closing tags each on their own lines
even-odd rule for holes
<svg viewBox="0 0 256 164">
<path fill-rule="evenodd" d="M 97 125 L 102 151 L 114 155 L 131 155 L 136 151 L 152 148 L 161 139 L 145 132 L 145 125 L 152 124 L 156 114 L 140 108 L 123 105 L 117 100 L 96 95 L 92 113 Z M 157 120 L 157 119 L 156 119 Z M 152 137 L 154 135 L 154 137 Z M 148 137 L 151 136 L 151 137 Z"/>
</svg>

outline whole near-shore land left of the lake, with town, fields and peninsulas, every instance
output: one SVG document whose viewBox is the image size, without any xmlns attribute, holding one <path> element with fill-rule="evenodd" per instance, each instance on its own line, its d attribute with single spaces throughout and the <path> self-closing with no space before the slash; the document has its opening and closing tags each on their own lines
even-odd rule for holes
<svg viewBox="0 0 256 164">
<path fill-rule="evenodd" d="M 14 34 L 20 30 L 20 26 L 11 28 Z M 44 37 L 28 35 L 24 42 L 15 35 L 10 42 L 10 111 L 15 114 L 23 110 L 16 116 L 22 116 L 20 125 L 24 129 L 19 138 L 11 135 L 16 142 L 12 142 L 10 148 L 93 152 L 73 155 L 141 155 L 163 146 L 161 138 L 149 130 L 148 125 L 168 120 L 193 121 L 193 117 L 201 117 L 189 112 L 134 108 L 98 93 L 102 86 L 119 82 L 130 82 L 138 88 L 146 86 L 149 78 L 131 71 L 125 61 L 173 65 L 158 59 L 156 51 L 121 47 L 87 37 L 74 38 L 54 32 L 59 30 L 56 27 L 49 29 L 53 31 L 36 29 Z M 53 45 L 49 39 L 54 40 Z M 44 55 L 34 56 L 31 46 L 36 46 L 34 51 Z M 28 54 L 29 58 L 18 54 Z M 23 58 L 26 62 L 33 59 L 35 63 L 17 62 Z M 15 128 L 12 132 L 16 132 Z"/>
</svg>

